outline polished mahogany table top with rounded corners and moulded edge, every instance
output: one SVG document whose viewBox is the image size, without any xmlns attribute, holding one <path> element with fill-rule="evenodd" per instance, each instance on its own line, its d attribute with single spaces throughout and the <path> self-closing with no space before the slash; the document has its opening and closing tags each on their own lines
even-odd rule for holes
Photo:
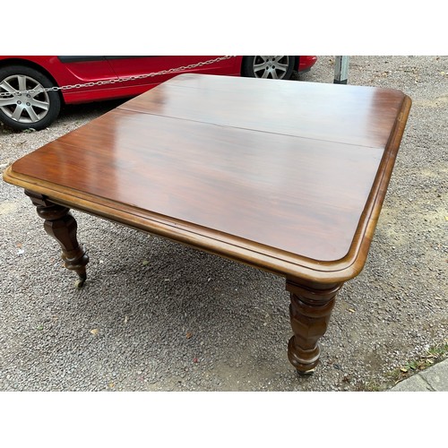
<svg viewBox="0 0 448 448">
<path fill-rule="evenodd" d="M 289 278 L 366 262 L 410 99 L 182 74 L 14 162 L 4 180 Z"/>
</svg>

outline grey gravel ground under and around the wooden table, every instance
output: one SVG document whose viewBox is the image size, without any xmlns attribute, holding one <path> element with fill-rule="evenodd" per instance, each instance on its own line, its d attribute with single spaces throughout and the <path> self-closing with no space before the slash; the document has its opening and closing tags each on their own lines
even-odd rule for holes
<svg viewBox="0 0 448 448">
<path fill-rule="evenodd" d="M 299 80 L 332 82 L 334 56 Z M 351 56 L 349 83 L 413 99 L 364 271 L 340 291 L 321 364 L 287 358 L 284 280 L 74 211 L 90 255 L 73 287 L 22 190 L 0 182 L 0 390 L 364 391 L 446 342 L 448 56 Z M 295 81 L 296 82 L 296 81 Z M 0 169 L 117 102 L 49 129 L 0 127 Z"/>
</svg>

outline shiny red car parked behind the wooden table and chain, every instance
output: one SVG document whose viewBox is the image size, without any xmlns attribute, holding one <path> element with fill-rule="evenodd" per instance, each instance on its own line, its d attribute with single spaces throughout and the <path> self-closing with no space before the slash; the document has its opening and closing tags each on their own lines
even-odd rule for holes
<svg viewBox="0 0 448 448">
<path fill-rule="evenodd" d="M 65 104 L 132 97 L 179 73 L 289 79 L 294 71 L 308 71 L 316 60 L 316 56 L 0 56 L 0 121 L 13 129 L 39 130 L 55 121 Z"/>
</svg>

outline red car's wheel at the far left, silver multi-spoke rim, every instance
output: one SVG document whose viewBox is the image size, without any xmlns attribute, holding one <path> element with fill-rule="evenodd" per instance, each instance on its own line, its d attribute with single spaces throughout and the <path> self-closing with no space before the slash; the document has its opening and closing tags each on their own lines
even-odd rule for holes
<svg viewBox="0 0 448 448">
<path fill-rule="evenodd" d="M 55 87 L 46 74 L 25 65 L 11 65 L 0 68 L 0 121 L 16 129 L 46 128 L 56 120 L 61 110 L 58 91 L 14 95 L 14 91 L 41 90 Z"/>
</svg>

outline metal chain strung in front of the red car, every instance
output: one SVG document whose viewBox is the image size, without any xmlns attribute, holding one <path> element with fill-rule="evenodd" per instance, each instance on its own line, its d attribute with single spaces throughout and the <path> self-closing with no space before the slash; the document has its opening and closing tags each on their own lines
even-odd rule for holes
<svg viewBox="0 0 448 448">
<path fill-rule="evenodd" d="M 33 89 L 33 90 L 15 90 L 13 92 L 5 91 L 0 92 L 0 97 L 10 97 L 11 95 L 20 96 L 20 95 L 26 95 L 32 93 L 33 95 L 36 95 L 38 93 L 42 93 L 45 91 L 57 91 L 57 90 L 70 90 L 70 89 L 82 89 L 83 87 L 94 87 L 96 85 L 105 85 L 105 84 L 115 84 L 116 82 L 127 82 L 127 81 L 134 81 L 134 80 L 142 80 L 144 78 L 151 78 L 154 76 L 159 76 L 162 74 L 172 74 L 172 73 L 178 73 L 178 72 L 185 72 L 187 70 L 192 70 L 197 67 L 202 67 L 203 65 L 211 65 L 214 63 L 218 63 L 220 61 L 224 61 L 226 59 L 231 59 L 232 57 L 236 56 L 220 56 L 215 59 L 210 59 L 208 61 L 198 62 L 196 64 L 190 64 L 190 65 L 182 65 L 177 68 L 170 68 L 169 70 L 161 70 L 160 72 L 153 72 L 153 73 L 147 73 L 147 74 L 139 74 L 136 76 L 129 76 L 127 78 L 114 78 L 110 80 L 103 80 L 103 81 L 97 81 L 97 82 L 86 82 L 84 84 L 71 84 L 71 85 L 65 85 L 65 86 L 54 86 L 54 87 L 47 87 L 43 89 Z M 1 87 L 1 86 L 0 86 Z"/>
</svg>

